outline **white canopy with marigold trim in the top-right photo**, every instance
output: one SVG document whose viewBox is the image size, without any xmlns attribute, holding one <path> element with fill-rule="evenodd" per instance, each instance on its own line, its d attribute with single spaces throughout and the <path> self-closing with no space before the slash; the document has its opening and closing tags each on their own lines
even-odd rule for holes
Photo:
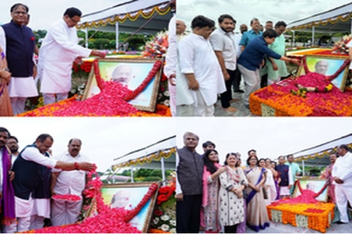
<svg viewBox="0 0 352 234">
<path fill-rule="evenodd" d="M 287 30 L 292 32 L 312 32 L 313 44 L 315 32 L 321 33 L 337 33 L 352 32 L 352 2 L 333 8 L 332 10 L 311 15 L 308 18 L 290 22 Z"/>
</svg>

